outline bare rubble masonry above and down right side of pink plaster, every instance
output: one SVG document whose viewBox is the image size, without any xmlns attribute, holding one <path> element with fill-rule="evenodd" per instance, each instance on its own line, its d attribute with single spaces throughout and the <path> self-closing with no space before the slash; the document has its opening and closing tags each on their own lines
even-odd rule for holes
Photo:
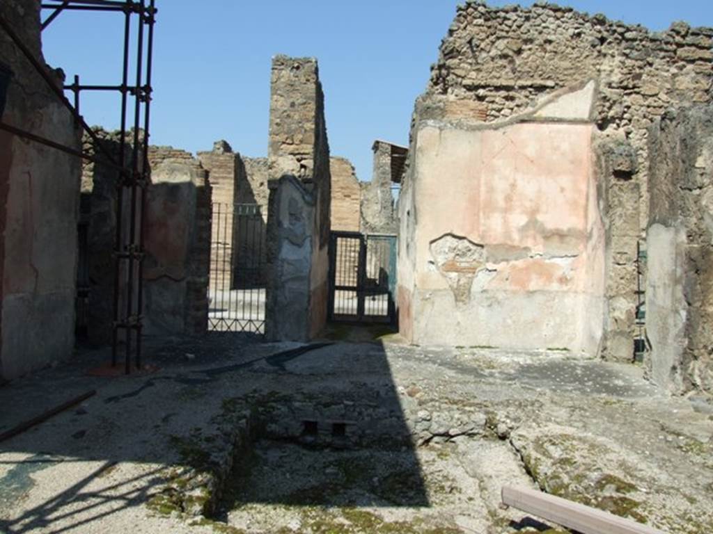
<svg viewBox="0 0 713 534">
<path fill-rule="evenodd" d="M 637 241 L 649 209 L 647 129 L 670 106 L 711 99 L 712 36 L 710 28 L 685 23 L 650 33 L 553 4 L 491 9 L 468 1 L 458 7 L 416 107 L 416 124 L 468 127 L 531 114 L 563 88 L 593 83 L 597 202 L 606 238 L 600 353 L 608 359 L 633 355 Z M 566 120 L 580 101 L 560 100 L 560 109 L 548 113 Z"/>
</svg>

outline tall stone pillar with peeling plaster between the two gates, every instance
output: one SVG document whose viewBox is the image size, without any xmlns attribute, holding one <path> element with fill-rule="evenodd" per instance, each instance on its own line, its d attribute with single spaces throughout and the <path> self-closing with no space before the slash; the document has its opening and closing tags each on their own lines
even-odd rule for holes
<svg viewBox="0 0 713 534">
<path fill-rule="evenodd" d="M 307 341 L 327 321 L 332 182 L 314 58 L 272 59 L 268 169 L 265 333 L 270 340 Z"/>
</svg>

